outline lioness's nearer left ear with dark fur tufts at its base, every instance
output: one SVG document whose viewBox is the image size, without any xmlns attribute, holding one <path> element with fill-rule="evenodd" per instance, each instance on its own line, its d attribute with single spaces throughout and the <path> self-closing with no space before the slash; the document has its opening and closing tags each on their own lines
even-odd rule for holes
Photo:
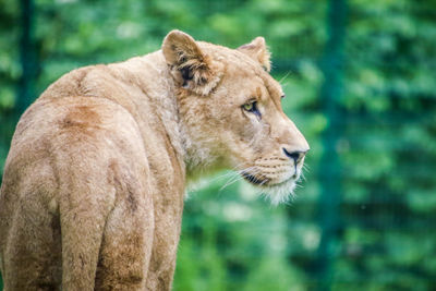
<svg viewBox="0 0 436 291">
<path fill-rule="evenodd" d="M 198 95 L 208 95 L 218 84 L 222 64 L 205 54 L 194 38 L 171 31 L 164 39 L 162 52 L 178 85 Z"/>
</svg>

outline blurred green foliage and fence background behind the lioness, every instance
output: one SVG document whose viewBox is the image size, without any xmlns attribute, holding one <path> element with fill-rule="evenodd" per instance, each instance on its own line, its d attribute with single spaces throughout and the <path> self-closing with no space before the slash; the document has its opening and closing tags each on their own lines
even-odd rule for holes
<svg viewBox="0 0 436 291">
<path fill-rule="evenodd" d="M 312 146 L 306 181 L 279 207 L 226 178 L 193 186 L 174 290 L 436 290 L 435 20 L 435 0 L 0 0 L 0 168 L 63 73 L 172 28 L 233 48 L 262 35 Z"/>
</svg>

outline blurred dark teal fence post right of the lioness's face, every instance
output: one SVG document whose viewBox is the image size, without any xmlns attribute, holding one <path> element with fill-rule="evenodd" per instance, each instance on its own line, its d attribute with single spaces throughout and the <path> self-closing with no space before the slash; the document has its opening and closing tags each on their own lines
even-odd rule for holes
<svg viewBox="0 0 436 291">
<path fill-rule="evenodd" d="M 341 135 L 339 99 L 343 66 L 343 39 L 346 34 L 346 0 L 329 0 L 328 39 L 322 60 L 324 84 L 320 102 L 328 120 L 323 135 L 324 154 L 320 159 L 322 193 L 319 201 L 319 226 L 322 238 L 318 248 L 318 290 L 330 290 L 332 265 L 337 256 L 340 228 L 340 162 L 337 144 Z"/>
</svg>

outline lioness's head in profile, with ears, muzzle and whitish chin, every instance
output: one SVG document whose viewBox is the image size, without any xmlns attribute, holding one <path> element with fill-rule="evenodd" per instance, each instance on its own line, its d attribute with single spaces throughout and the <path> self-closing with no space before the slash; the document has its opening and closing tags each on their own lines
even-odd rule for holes
<svg viewBox="0 0 436 291">
<path fill-rule="evenodd" d="M 310 149 L 283 113 L 262 37 L 235 50 L 173 31 L 162 45 L 178 90 L 189 174 L 230 168 L 286 202 Z"/>
</svg>

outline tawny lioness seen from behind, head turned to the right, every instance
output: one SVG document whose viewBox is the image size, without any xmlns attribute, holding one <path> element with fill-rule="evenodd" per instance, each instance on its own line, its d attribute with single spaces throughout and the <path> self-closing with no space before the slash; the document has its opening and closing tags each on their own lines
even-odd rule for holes
<svg viewBox="0 0 436 291">
<path fill-rule="evenodd" d="M 262 37 L 170 32 L 159 51 L 74 70 L 21 118 L 0 195 L 4 290 L 170 290 L 186 180 L 240 170 L 286 201 L 308 145 Z"/>
</svg>

